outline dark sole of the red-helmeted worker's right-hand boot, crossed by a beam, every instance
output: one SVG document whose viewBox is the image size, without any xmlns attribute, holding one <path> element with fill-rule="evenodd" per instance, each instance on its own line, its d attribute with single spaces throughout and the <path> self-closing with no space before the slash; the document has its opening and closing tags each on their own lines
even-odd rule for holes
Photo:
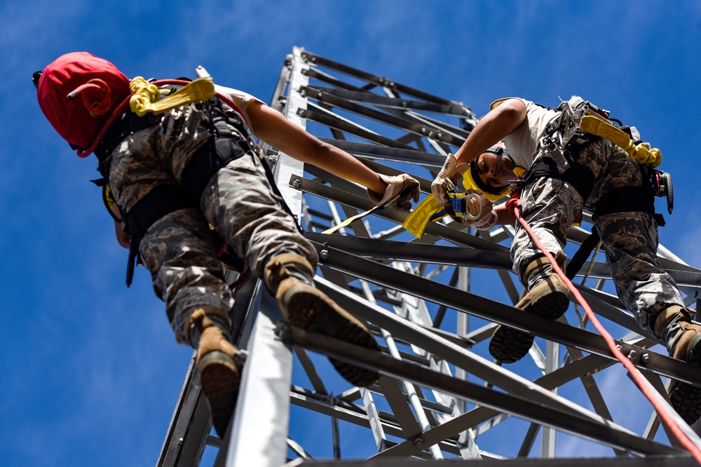
<svg viewBox="0 0 701 467">
<path fill-rule="evenodd" d="M 285 308 L 290 324 L 308 332 L 324 334 L 349 344 L 380 351 L 375 338 L 365 325 L 329 301 L 320 290 L 306 284 L 293 285 L 285 292 L 282 300 L 283 304 L 287 304 Z M 377 381 L 379 376 L 375 371 L 334 358 L 329 358 L 329 361 L 346 381 L 355 386 L 369 386 Z"/>
</svg>

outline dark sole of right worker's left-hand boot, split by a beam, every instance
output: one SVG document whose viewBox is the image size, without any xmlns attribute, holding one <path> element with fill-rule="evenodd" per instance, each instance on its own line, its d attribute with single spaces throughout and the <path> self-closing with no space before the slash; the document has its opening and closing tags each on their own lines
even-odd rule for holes
<svg viewBox="0 0 701 467">
<path fill-rule="evenodd" d="M 523 311 L 547 320 L 556 320 L 569 307 L 569 293 L 563 287 L 543 290 L 524 306 Z M 500 325 L 489 341 L 489 353 L 501 363 L 515 363 L 526 356 L 533 346 L 533 334 Z"/>
</svg>

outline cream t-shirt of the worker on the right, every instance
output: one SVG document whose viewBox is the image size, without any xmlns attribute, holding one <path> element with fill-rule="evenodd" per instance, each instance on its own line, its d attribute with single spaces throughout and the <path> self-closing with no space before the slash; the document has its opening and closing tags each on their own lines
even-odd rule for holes
<svg viewBox="0 0 701 467">
<path fill-rule="evenodd" d="M 492 102 L 490 109 L 498 107 L 507 99 L 518 99 L 526 106 L 526 118 L 515 130 L 506 135 L 504 144 L 506 150 L 514 159 L 517 165 L 523 168 L 531 168 L 535 158 L 538 141 L 543 137 L 547 124 L 556 119 L 560 112 L 554 109 L 547 109 L 534 104 L 530 100 L 520 97 L 505 97 L 504 99 Z"/>
</svg>

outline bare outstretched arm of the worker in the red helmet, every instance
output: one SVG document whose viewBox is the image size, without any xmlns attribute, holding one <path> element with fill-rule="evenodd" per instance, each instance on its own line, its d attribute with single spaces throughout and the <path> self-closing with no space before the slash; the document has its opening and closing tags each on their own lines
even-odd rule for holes
<svg viewBox="0 0 701 467">
<path fill-rule="evenodd" d="M 318 140 L 266 104 L 252 100 L 246 111 L 256 135 L 285 154 L 360 183 L 376 193 L 382 194 L 387 188 L 374 170 L 351 154 Z"/>
</svg>

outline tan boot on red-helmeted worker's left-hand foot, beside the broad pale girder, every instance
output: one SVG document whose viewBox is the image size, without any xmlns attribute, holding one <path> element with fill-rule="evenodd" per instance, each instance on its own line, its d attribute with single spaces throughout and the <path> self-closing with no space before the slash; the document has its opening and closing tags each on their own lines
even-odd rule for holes
<svg viewBox="0 0 701 467">
<path fill-rule="evenodd" d="M 210 409 L 212 423 L 220 438 L 229 428 L 236 407 L 242 363 L 236 358 L 236 347 L 222 330 L 207 317 L 205 309 L 196 309 L 190 317 L 199 332 L 197 371 L 202 392 Z"/>
</svg>

